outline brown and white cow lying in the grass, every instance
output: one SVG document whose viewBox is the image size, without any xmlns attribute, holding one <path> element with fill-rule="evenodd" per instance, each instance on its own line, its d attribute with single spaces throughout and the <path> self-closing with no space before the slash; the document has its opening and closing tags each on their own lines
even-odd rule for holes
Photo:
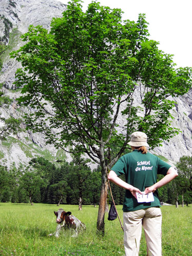
<svg viewBox="0 0 192 256">
<path fill-rule="evenodd" d="M 58 224 L 56 227 L 55 233 L 49 234 L 49 236 L 54 236 L 56 238 L 59 237 L 59 233 L 61 228 L 72 229 L 74 230 L 74 234 L 72 237 L 77 237 L 78 232 L 86 229 L 86 225 L 78 220 L 75 216 L 71 215 L 71 211 L 66 212 L 63 209 L 58 209 L 58 211 L 54 211 L 56 215 L 56 223 Z"/>
</svg>

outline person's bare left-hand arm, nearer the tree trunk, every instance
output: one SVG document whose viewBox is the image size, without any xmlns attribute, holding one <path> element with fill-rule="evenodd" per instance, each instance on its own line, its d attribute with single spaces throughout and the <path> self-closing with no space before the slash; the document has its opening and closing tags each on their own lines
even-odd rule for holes
<svg viewBox="0 0 192 256">
<path fill-rule="evenodd" d="M 121 180 L 113 170 L 110 170 L 110 173 L 108 175 L 108 180 L 110 180 L 111 182 L 115 183 L 116 185 L 118 185 L 120 187 L 130 190 L 131 194 L 136 199 L 137 199 L 136 192 L 142 194 L 141 191 L 137 187 L 134 187 L 134 186 L 126 183 L 125 181 Z"/>
</svg>

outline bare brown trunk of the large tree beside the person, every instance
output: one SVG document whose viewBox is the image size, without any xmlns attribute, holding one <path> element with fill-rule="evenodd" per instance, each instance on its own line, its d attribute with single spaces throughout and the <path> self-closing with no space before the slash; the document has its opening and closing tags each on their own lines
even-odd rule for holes
<svg viewBox="0 0 192 256">
<path fill-rule="evenodd" d="M 101 185 L 101 195 L 99 201 L 99 210 L 97 217 L 97 230 L 104 235 L 104 214 L 105 214 L 105 205 L 106 205 L 106 196 L 108 194 L 108 182 L 106 179 L 102 181 Z"/>
</svg>

